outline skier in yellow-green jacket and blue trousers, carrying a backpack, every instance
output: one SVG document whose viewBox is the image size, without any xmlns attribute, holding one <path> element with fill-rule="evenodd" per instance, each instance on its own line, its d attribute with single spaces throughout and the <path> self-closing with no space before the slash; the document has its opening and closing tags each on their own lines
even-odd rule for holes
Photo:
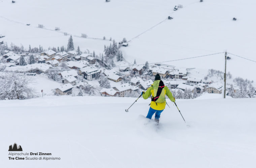
<svg viewBox="0 0 256 168">
<path fill-rule="evenodd" d="M 160 75 L 156 74 L 154 83 L 146 92 L 141 92 L 141 95 L 144 99 L 147 99 L 150 95 L 152 95 L 149 112 L 146 118 L 152 118 L 153 114 L 155 114 L 155 122 L 159 123 L 160 114 L 165 109 L 166 100 L 165 95 L 169 97 L 172 102 L 175 102 L 175 97 L 172 96 L 171 91 L 167 86 L 164 86 L 163 81 L 161 81 Z"/>
</svg>

